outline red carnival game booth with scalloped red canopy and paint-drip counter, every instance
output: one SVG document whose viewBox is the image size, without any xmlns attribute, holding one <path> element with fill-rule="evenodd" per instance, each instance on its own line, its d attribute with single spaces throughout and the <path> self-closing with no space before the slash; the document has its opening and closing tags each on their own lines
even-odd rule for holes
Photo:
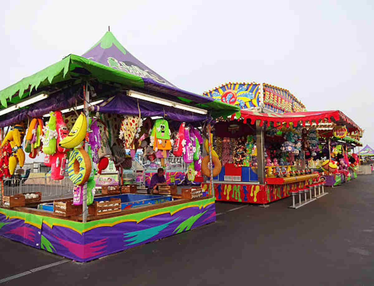
<svg viewBox="0 0 374 286">
<path fill-rule="evenodd" d="M 213 139 L 222 161 L 221 171 L 214 174 L 216 200 L 265 204 L 322 184 L 317 168 L 307 167 L 305 153 L 318 147 L 316 123 L 325 122 L 344 124 L 349 132 L 359 129 L 338 110 L 283 114 L 241 110 L 230 120 L 221 118 Z"/>
</svg>

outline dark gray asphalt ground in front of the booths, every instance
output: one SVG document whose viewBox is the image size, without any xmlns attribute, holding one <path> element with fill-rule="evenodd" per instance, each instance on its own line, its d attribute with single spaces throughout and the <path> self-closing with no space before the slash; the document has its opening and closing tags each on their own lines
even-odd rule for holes
<svg viewBox="0 0 374 286">
<path fill-rule="evenodd" d="M 0 279 L 32 270 L 3 285 L 374 285 L 373 182 L 361 175 L 297 210 L 291 198 L 217 202 L 215 223 L 85 264 L 0 238 Z"/>
</svg>

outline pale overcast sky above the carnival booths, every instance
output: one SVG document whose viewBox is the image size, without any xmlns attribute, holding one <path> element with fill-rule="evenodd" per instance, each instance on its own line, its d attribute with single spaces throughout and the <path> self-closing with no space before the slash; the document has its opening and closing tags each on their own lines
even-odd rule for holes
<svg viewBox="0 0 374 286">
<path fill-rule="evenodd" d="M 201 94 L 222 83 L 288 89 L 339 109 L 374 148 L 374 1 L 1 1 L 0 90 L 108 30 L 145 65 Z"/>
</svg>

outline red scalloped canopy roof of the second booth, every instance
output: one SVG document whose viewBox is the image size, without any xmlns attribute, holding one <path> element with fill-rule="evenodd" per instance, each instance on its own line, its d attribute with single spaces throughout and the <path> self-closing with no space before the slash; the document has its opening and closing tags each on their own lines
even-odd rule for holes
<svg viewBox="0 0 374 286">
<path fill-rule="evenodd" d="M 240 113 L 244 123 L 246 123 L 248 119 L 251 120 L 251 124 L 254 124 L 256 120 L 260 120 L 260 126 L 263 125 L 264 121 L 267 122 L 268 126 L 270 126 L 270 122 L 273 122 L 275 125 L 277 123 L 286 123 L 286 127 L 289 127 L 289 123 L 293 122 L 294 126 L 296 126 L 299 121 L 301 121 L 303 126 L 305 126 L 306 121 L 309 121 L 311 123 L 312 120 L 314 120 L 316 123 L 318 123 L 320 119 L 327 119 L 328 122 L 332 121 L 336 124 L 345 125 L 349 132 L 360 129 L 360 127 L 355 122 L 353 122 L 352 119 L 347 117 L 340 110 L 289 113 L 263 113 L 241 110 Z M 231 117 L 231 119 L 234 119 L 234 115 Z"/>
</svg>

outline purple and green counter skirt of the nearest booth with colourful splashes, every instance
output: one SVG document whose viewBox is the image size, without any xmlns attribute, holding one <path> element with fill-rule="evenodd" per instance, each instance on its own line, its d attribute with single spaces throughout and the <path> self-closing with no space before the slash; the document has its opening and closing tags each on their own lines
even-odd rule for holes
<svg viewBox="0 0 374 286">
<path fill-rule="evenodd" d="M 81 215 L 0 207 L 1 236 L 85 262 L 214 222 L 215 203 L 212 197 L 181 199 L 81 221 Z"/>
</svg>

